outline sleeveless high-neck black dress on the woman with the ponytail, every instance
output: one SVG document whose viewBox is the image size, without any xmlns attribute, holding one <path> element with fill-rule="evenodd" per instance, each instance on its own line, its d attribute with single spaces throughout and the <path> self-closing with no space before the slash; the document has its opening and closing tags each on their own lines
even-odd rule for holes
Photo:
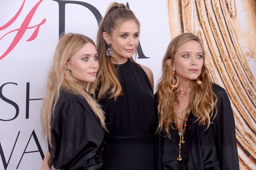
<svg viewBox="0 0 256 170">
<path fill-rule="evenodd" d="M 117 66 L 116 66 L 117 67 Z M 100 104 L 106 113 L 106 170 L 155 170 L 156 102 L 150 81 L 138 64 L 128 60 L 117 70 L 123 96 L 105 96 Z"/>
</svg>

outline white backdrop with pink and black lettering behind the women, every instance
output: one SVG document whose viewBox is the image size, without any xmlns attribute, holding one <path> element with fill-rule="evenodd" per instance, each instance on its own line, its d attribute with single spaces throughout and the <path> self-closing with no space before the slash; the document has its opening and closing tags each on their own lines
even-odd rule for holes
<svg viewBox="0 0 256 170">
<path fill-rule="evenodd" d="M 101 16 L 113 2 L 79 1 L 94 6 Z M 130 0 L 128 3 L 141 22 L 140 44 L 144 55 L 149 57 L 136 61 L 153 71 L 156 86 L 170 42 L 166 1 Z M 0 18 L 0 170 L 40 169 L 47 150 L 39 118 L 41 99 L 59 40 L 59 3 L 1 0 Z M 88 8 L 66 4 L 66 32 L 85 34 L 96 41 L 97 29 L 95 16 Z"/>
</svg>

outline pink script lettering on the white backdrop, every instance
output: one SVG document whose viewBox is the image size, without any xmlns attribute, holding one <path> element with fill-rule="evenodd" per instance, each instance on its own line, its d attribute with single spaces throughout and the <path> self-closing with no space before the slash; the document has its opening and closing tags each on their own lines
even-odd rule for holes
<svg viewBox="0 0 256 170">
<path fill-rule="evenodd" d="M 14 37 L 12 43 L 10 44 L 10 46 L 7 48 L 7 50 L 5 51 L 5 53 L 0 57 L 0 60 L 3 59 L 7 54 L 9 54 L 13 48 L 15 48 L 15 46 L 18 44 L 18 42 L 20 41 L 20 39 L 22 38 L 22 36 L 24 35 L 24 33 L 26 32 L 27 29 L 32 29 L 32 28 L 35 28 L 35 31 L 33 32 L 33 34 L 31 35 L 30 38 L 27 39 L 27 41 L 32 41 L 34 40 L 36 37 L 37 37 L 37 34 L 38 34 L 38 31 L 39 31 L 39 28 L 41 25 L 43 25 L 45 22 L 46 22 L 46 18 L 44 18 L 42 20 L 41 23 L 35 25 L 35 26 L 32 26 L 32 27 L 28 27 L 31 19 L 33 18 L 36 10 L 37 10 L 37 7 L 40 5 L 40 3 L 42 2 L 43 0 L 40 0 L 39 2 L 37 2 L 37 4 L 29 11 L 29 13 L 27 14 L 27 16 L 25 17 L 24 21 L 22 22 L 20 28 L 17 28 L 17 29 L 14 29 L 8 33 L 6 33 L 3 37 L 5 37 L 6 35 L 12 33 L 12 32 L 15 32 L 17 31 L 17 34 L 16 36 Z M 9 27 L 10 25 L 12 25 L 14 23 L 14 21 L 17 19 L 17 17 L 19 16 L 19 14 L 21 13 L 22 11 L 22 8 L 25 4 L 25 0 L 23 1 L 20 9 L 18 10 L 18 12 L 15 14 L 15 16 L 9 21 L 7 22 L 5 25 L 3 25 L 2 27 L 0 27 L 0 31 L 4 30 L 5 28 Z M 0 40 L 3 38 L 1 37 Z M 1 55 L 1 54 L 0 54 Z"/>
</svg>

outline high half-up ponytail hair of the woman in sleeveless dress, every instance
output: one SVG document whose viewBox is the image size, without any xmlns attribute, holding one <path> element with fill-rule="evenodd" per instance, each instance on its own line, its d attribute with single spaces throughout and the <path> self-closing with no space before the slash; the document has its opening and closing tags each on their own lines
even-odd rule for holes
<svg viewBox="0 0 256 170">
<path fill-rule="evenodd" d="M 96 81 L 96 86 L 100 87 L 100 89 L 97 89 L 99 91 L 97 98 L 98 101 L 100 101 L 100 99 L 102 99 L 107 93 L 110 93 L 110 98 L 114 98 L 115 101 L 119 96 L 123 95 L 123 91 L 117 77 L 117 68 L 112 64 L 112 60 L 115 60 L 115 58 L 108 57 L 106 55 L 108 48 L 102 33 L 106 32 L 111 37 L 113 31 L 117 29 L 121 23 L 131 20 L 135 21 L 140 29 L 140 22 L 134 15 L 133 11 L 126 8 L 124 4 L 116 2 L 109 5 L 105 16 L 101 20 L 96 45 L 100 65 Z M 129 60 L 135 63 L 132 57 L 129 58 Z"/>
</svg>

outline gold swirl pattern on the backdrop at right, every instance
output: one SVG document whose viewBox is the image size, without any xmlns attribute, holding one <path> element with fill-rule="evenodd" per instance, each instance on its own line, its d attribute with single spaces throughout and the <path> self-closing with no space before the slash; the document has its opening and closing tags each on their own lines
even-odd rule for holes
<svg viewBox="0 0 256 170">
<path fill-rule="evenodd" d="M 201 38 L 214 82 L 226 89 L 240 169 L 256 169 L 256 0 L 167 0 L 171 38 Z M 253 74 L 254 73 L 254 74 Z"/>
</svg>

